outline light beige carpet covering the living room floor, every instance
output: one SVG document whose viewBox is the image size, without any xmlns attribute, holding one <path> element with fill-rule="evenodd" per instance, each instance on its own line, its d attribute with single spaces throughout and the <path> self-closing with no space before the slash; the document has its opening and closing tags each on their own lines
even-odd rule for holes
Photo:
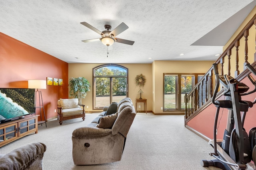
<svg viewBox="0 0 256 170">
<path fill-rule="evenodd" d="M 127 136 L 122 159 L 118 162 L 76 166 L 72 160 L 72 132 L 89 124 L 98 113 L 86 119 L 58 120 L 38 125 L 38 133 L 0 148 L 5 154 L 26 143 L 46 144 L 44 170 L 217 170 L 204 168 L 201 159 L 212 159 L 208 142 L 184 127 L 184 115 L 138 113 Z M 86 158 L 85 158 L 86 159 Z M 219 170 L 219 169 L 218 169 Z"/>
</svg>

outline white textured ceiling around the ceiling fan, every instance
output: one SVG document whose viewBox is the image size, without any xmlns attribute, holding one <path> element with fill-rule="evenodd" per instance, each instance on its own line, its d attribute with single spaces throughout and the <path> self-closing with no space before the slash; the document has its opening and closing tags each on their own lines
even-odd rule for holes
<svg viewBox="0 0 256 170">
<path fill-rule="evenodd" d="M 0 0 L 0 31 L 67 63 L 216 60 L 255 5 L 256 0 Z M 82 42 L 100 35 L 80 22 L 100 31 L 124 22 L 129 28 L 116 37 L 135 43 L 114 43 L 107 57 L 100 41 Z"/>
</svg>

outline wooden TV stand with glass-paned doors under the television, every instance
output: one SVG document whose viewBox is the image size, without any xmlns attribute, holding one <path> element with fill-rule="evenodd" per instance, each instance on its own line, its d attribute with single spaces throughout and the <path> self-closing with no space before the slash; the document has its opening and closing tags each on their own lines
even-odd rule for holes
<svg viewBox="0 0 256 170">
<path fill-rule="evenodd" d="M 31 133 L 38 133 L 38 116 L 26 115 L 24 118 L 0 124 L 0 147 Z"/>
</svg>

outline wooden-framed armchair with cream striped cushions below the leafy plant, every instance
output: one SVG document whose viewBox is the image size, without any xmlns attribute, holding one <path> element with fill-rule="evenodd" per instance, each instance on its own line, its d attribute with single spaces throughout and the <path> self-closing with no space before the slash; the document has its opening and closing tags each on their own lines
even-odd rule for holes
<svg viewBox="0 0 256 170">
<path fill-rule="evenodd" d="M 58 100 L 58 119 L 60 119 L 60 125 L 64 120 L 74 119 L 82 117 L 85 119 L 83 104 L 78 104 L 78 99 L 60 99 Z M 81 108 L 82 107 L 82 108 Z"/>
</svg>

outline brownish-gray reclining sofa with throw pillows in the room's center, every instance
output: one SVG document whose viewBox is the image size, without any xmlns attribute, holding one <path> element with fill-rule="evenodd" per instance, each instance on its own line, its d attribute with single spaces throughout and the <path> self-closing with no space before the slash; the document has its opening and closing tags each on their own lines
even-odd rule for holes
<svg viewBox="0 0 256 170">
<path fill-rule="evenodd" d="M 136 111 L 130 98 L 124 98 L 117 104 L 116 113 L 106 115 L 110 106 L 107 110 L 105 108 L 105 111 L 92 123 L 73 131 L 74 164 L 103 164 L 121 160 L 126 137 Z"/>
</svg>

